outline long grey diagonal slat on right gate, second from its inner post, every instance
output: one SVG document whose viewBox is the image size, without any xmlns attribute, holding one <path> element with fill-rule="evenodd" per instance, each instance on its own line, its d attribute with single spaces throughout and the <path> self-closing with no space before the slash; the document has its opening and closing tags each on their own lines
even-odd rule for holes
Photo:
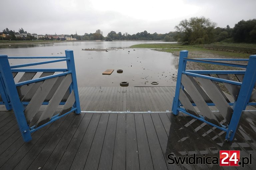
<svg viewBox="0 0 256 170">
<path fill-rule="evenodd" d="M 181 83 L 185 87 L 185 89 L 187 90 L 188 94 L 191 96 L 193 101 L 195 102 L 197 108 L 200 110 L 200 113 L 202 116 L 204 116 L 205 120 L 221 127 L 220 123 L 217 121 L 217 118 L 212 113 L 210 108 L 207 106 L 203 97 L 198 92 L 197 88 L 194 86 L 191 79 L 188 78 L 186 74 L 182 74 Z"/>
</svg>

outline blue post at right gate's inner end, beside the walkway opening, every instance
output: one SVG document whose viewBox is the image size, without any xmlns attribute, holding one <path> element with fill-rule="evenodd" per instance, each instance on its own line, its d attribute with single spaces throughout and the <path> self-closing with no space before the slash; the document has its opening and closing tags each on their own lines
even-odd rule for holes
<svg viewBox="0 0 256 170">
<path fill-rule="evenodd" d="M 177 83 L 176 83 L 176 89 L 175 89 L 175 96 L 173 98 L 173 103 L 172 103 L 172 113 L 174 115 L 178 115 L 179 113 L 177 109 L 180 107 L 179 95 L 180 95 L 180 88 L 182 88 L 181 76 L 182 76 L 182 71 L 186 70 L 187 61 L 184 61 L 184 58 L 186 57 L 188 57 L 188 51 L 187 50 L 180 51 Z"/>
</svg>

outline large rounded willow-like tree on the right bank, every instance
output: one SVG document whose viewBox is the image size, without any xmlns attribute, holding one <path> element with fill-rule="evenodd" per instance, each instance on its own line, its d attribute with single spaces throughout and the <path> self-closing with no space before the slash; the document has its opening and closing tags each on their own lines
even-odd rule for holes
<svg viewBox="0 0 256 170">
<path fill-rule="evenodd" d="M 189 44 L 204 44 L 214 41 L 216 23 L 205 17 L 192 17 L 182 20 L 175 29 L 179 32 L 179 41 Z"/>
</svg>

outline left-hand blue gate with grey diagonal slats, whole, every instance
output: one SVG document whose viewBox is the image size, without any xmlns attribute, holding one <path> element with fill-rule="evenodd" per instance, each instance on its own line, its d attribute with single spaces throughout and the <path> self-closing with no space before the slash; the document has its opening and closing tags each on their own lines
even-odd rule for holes
<svg viewBox="0 0 256 170">
<path fill-rule="evenodd" d="M 75 112 L 81 112 L 74 54 L 65 50 L 64 57 L 8 57 L 0 55 L 0 104 L 7 110 L 13 109 L 24 141 L 28 142 L 31 133 Z M 10 66 L 8 59 L 52 59 L 42 62 Z M 66 61 L 67 68 L 21 68 L 34 65 Z M 15 83 L 14 77 L 18 72 L 24 72 Z M 39 78 L 33 77 L 41 74 Z M 42 105 L 47 105 L 43 112 L 38 112 Z M 64 105 L 56 112 L 59 105 Z"/>
</svg>

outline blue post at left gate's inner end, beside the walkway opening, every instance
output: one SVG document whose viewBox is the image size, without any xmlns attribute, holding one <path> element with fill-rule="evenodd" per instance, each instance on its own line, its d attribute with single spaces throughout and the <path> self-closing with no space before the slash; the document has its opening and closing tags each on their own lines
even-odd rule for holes
<svg viewBox="0 0 256 170">
<path fill-rule="evenodd" d="M 72 87 L 75 94 L 75 107 L 77 110 L 75 111 L 76 114 L 81 113 L 80 102 L 79 102 L 79 95 L 78 95 L 78 87 L 77 87 L 77 80 L 76 80 L 76 68 L 75 68 L 75 60 L 74 60 L 74 53 L 73 50 L 65 50 L 66 57 L 69 59 L 67 60 L 67 68 L 69 71 L 72 71 Z"/>
</svg>

